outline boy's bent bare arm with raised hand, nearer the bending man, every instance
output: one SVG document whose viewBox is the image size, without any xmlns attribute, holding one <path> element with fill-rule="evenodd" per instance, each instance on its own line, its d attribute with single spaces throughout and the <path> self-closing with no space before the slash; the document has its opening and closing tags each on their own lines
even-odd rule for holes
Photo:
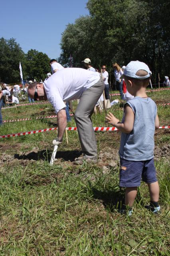
<svg viewBox="0 0 170 256">
<path fill-rule="evenodd" d="M 125 121 L 124 123 L 120 123 L 119 119 L 117 119 L 112 113 L 109 112 L 106 119 L 109 121 L 111 125 L 117 127 L 119 131 L 123 133 L 131 133 L 134 124 L 134 113 L 130 106 L 126 105 L 125 107 Z"/>
</svg>

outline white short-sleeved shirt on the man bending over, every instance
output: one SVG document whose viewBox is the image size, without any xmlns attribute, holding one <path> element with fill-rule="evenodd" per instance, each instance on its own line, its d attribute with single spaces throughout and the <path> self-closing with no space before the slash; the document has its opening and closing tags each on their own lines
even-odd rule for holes
<svg viewBox="0 0 170 256">
<path fill-rule="evenodd" d="M 65 109 L 63 101 L 80 99 L 83 91 L 95 85 L 99 79 L 98 72 L 66 68 L 55 72 L 43 84 L 47 99 L 53 105 L 55 113 L 58 113 L 59 110 Z"/>
</svg>

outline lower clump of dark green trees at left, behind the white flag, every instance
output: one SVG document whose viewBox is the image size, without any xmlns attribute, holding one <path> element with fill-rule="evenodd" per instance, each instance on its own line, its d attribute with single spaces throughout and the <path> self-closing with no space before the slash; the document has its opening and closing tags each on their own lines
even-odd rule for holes
<svg viewBox="0 0 170 256">
<path fill-rule="evenodd" d="M 14 38 L 0 38 L 0 81 L 13 83 L 20 81 L 19 64 L 22 64 L 24 79 L 44 80 L 50 72 L 49 57 L 43 52 L 29 50 L 25 54 Z"/>
</svg>

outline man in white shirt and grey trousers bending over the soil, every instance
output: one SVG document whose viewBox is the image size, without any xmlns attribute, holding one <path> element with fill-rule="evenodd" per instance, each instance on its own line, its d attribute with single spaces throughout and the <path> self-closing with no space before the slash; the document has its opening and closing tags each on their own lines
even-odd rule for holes
<svg viewBox="0 0 170 256">
<path fill-rule="evenodd" d="M 59 70 L 43 84 L 33 83 L 28 87 L 31 98 L 48 99 L 57 113 L 58 137 L 53 140 L 53 145 L 62 142 L 67 125 L 64 101 L 80 99 L 74 117 L 84 156 L 77 159 L 76 164 L 82 164 L 83 160 L 97 163 L 97 143 L 91 115 L 103 90 L 104 83 L 98 72 L 80 68 Z"/>
</svg>

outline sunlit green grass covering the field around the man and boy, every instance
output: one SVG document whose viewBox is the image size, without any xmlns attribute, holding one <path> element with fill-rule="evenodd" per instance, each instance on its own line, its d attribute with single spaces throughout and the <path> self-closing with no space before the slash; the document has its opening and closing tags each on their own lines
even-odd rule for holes
<svg viewBox="0 0 170 256">
<path fill-rule="evenodd" d="M 170 102 L 170 92 L 152 93 L 155 101 Z M 43 110 L 42 110 L 43 109 Z M 75 106 L 74 106 L 75 109 Z M 111 112 L 121 119 L 123 112 Z M 50 105 L 3 110 L 4 119 L 48 115 Z M 44 113 L 45 111 L 45 113 Z M 158 106 L 160 125 L 170 124 L 170 107 Z M 0 134 L 54 127 L 56 119 L 5 123 Z M 105 126 L 105 114 L 93 115 L 94 126 Z M 74 120 L 69 126 L 75 126 Z M 57 155 L 80 151 L 76 131 L 68 131 Z M 120 134 L 97 132 L 99 151 L 117 151 Z M 23 159 L 0 165 L 0 255 L 2 256 L 161 256 L 170 255 L 169 161 L 155 161 L 160 185 L 161 214 L 144 209 L 149 203 L 142 182 L 131 218 L 119 214 L 124 189 L 119 187 L 119 166 L 108 172 L 98 165 L 49 165 L 56 132 L 1 139 L 0 156 L 18 154 Z M 169 143 L 168 130 L 157 130 L 156 146 Z M 30 155 L 30 153 L 32 155 Z M 43 155 L 43 157 L 42 157 Z M 69 159 L 69 157 L 68 157 Z"/>
</svg>

